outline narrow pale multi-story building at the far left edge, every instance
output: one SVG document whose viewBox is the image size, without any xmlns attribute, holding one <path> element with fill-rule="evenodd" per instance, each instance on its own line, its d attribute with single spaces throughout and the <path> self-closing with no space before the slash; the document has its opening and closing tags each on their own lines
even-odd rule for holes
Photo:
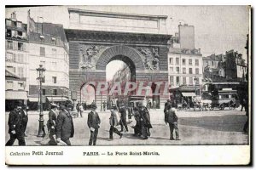
<svg viewBox="0 0 256 170">
<path fill-rule="evenodd" d="M 29 81 L 27 26 L 16 19 L 15 12 L 5 19 L 6 110 L 15 100 L 26 103 Z M 15 76 L 10 76 L 15 75 Z M 15 78 L 14 78 L 15 77 Z"/>
</svg>

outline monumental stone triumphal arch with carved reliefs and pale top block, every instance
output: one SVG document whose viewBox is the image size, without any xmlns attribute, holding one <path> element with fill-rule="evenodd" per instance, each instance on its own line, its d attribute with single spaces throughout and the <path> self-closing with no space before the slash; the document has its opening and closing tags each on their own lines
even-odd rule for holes
<svg viewBox="0 0 256 170">
<path fill-rule="evenodd" d="M 106 82 L 106 65 L 122 60 L 131 70 L 132 82 L 168 83 L 166 16 L 116 14 L 69 8 L 70 91 L 81 98 L 88 83 Z M 93 84 L 96 86 L 96 84 Z M 160 92 L 164 90 L 160 84 Z M 106 92 L 107 93 L 107 92 Z M 96 103 L 107 94 L 96 94 Z M 158 96 L 164 105 L 168 95 Z"/>
</svg>

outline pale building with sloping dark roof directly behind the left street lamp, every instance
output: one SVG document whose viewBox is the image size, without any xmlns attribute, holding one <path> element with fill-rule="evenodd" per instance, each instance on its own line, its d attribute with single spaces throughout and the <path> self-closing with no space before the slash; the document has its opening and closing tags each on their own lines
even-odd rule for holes
<svg viewBox="0 0 256 170">
<path fill-rule="evenodd" d="M 29 100 L 38 102 L 37 68 L 43 65 L 45 101 L 59 102 L 69 96 L 67 39 L 62 25 L 36 23 L 28 14 Z"/>
</svg>

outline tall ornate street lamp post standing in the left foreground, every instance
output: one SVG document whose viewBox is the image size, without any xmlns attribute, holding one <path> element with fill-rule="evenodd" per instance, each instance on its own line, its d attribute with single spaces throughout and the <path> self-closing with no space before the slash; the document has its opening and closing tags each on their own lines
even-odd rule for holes
<svg viewBox="0 0 256 170">
<path fill-rule="evenodd" d="M 43 65 L 39 65 L 39 68 L 37 69 L 38 72 L 38 80 L 39 80 L 39 101 L 38 105 L 40 108 L 39 112 L 39 127 L 38 127 L 38 137 L 44 137 L 45 131 L 44 131 L 44 113 L 43 113 L 43 95 L 42 95 L 42 81 L 44 79 L 44 67 Z"/>
</svg>

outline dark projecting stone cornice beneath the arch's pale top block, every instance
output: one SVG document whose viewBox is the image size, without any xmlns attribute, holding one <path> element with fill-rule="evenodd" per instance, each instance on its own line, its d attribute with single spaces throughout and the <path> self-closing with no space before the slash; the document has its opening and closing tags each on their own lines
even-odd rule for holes
<svg viewBox="0 0 256 170">
<path fill-rule="evenodd" d="M 167 45 L 171 35 L 65 29 L 67 41 L 133 42 Z"/>
</svg>

